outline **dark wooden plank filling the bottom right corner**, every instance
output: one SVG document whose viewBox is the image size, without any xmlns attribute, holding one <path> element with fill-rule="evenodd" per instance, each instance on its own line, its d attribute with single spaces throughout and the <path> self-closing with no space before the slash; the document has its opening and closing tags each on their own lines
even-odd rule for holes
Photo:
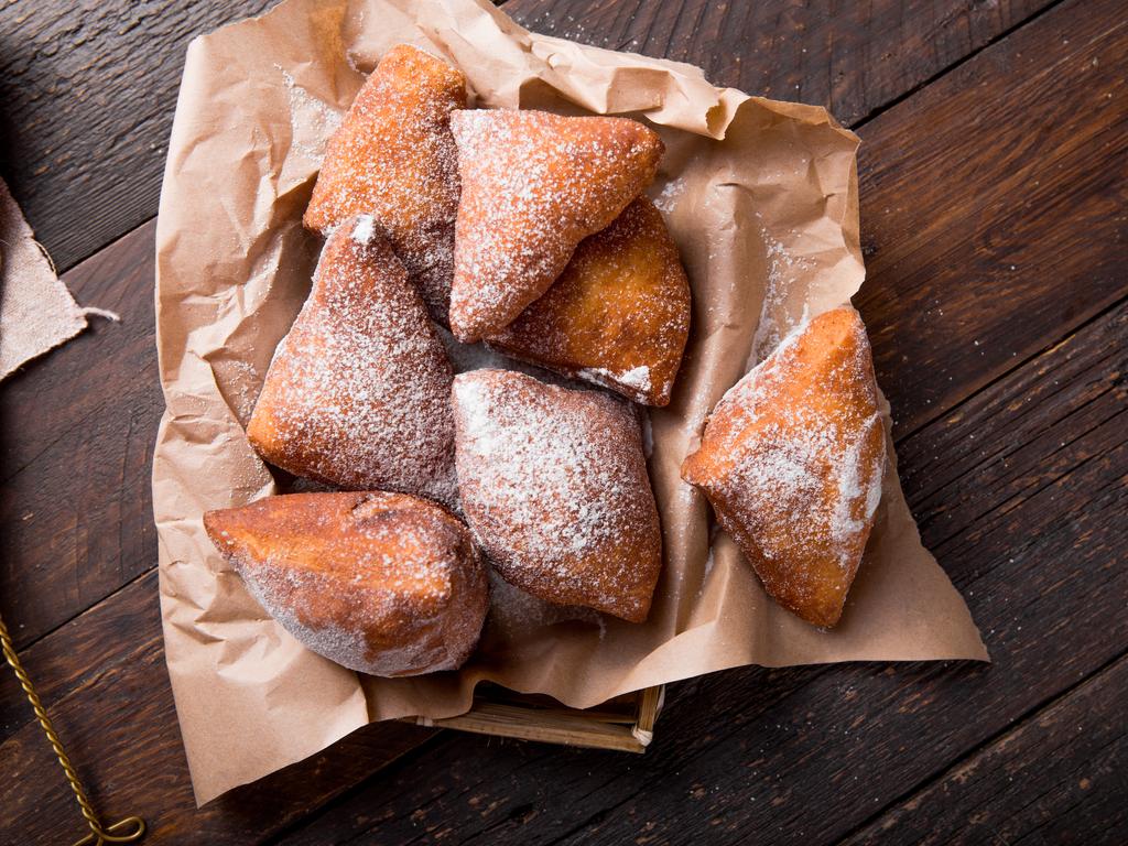
<svg viewBox="0 0 1128 846">
<path fill-rule="evenodd" d="M 1128 659 L 1120 659 L 847 843 L 1112 843 L 1118 835 L 1122 840 L 1125 690 Z"/>
</svg>

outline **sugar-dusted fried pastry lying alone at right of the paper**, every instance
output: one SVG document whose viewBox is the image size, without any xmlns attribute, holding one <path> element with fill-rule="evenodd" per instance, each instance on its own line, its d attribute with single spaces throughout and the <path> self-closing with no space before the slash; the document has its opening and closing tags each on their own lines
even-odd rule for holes
<svg viewBox="0 0 1128 846">
<path fill-rule="evenodd" d="M 705 492 L 768 593 L 832 626 L 884 470 L 870 342 L 847 306 L 790 335 L 724 395 L 681 477 Z"/>
</svg>

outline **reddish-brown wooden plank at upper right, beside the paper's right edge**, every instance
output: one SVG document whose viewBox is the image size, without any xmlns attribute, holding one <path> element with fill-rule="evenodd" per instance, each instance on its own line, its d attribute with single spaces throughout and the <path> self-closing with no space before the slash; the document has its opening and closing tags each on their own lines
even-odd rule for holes
<svg viewBox="0 0 1128 846">
<path fill-rule="evenodd" d="M 862 131 L 856 298 L 905 434 L 1128 293 L 1128 18 L 1067 2 Z"/>
</svg>

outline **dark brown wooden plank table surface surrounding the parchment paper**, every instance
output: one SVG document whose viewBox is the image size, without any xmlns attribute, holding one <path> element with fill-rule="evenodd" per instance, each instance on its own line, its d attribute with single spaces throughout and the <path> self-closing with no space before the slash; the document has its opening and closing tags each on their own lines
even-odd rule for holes
<svg viewBox="0 0 1128 846">
<path fill-rule="evenodd" d="M 370 726 L 196 810 L 153 570 L 153 215 L 188 38 L 268 5 L 0 2 L 0 173 L 79 300 L 122 314 L 0 388 L 0 610 L 108 818 L 210 846 L 1128 841 L 1122 0 L 504 7 L 862 136 L 856 305 L 992 666 L 673 685 L 641 758 Z M 0 843 L 70 843 L 7 672 L 0 743 Z"/>
</svg>

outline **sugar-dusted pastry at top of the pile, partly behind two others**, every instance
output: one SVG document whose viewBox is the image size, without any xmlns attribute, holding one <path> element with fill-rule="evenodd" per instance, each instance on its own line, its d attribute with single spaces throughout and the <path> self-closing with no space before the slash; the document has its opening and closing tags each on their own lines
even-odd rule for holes
<svg viewBox="0 0 1128 846">
<path fill-rule="evenodd" d="M 456 108 L 466 108 L 460 71 L 407 44 L 389 50 L 329 140 L 305 217 L 325 235 L 371 214 L 443 324 L 458 210 Z"/>
</svg>

